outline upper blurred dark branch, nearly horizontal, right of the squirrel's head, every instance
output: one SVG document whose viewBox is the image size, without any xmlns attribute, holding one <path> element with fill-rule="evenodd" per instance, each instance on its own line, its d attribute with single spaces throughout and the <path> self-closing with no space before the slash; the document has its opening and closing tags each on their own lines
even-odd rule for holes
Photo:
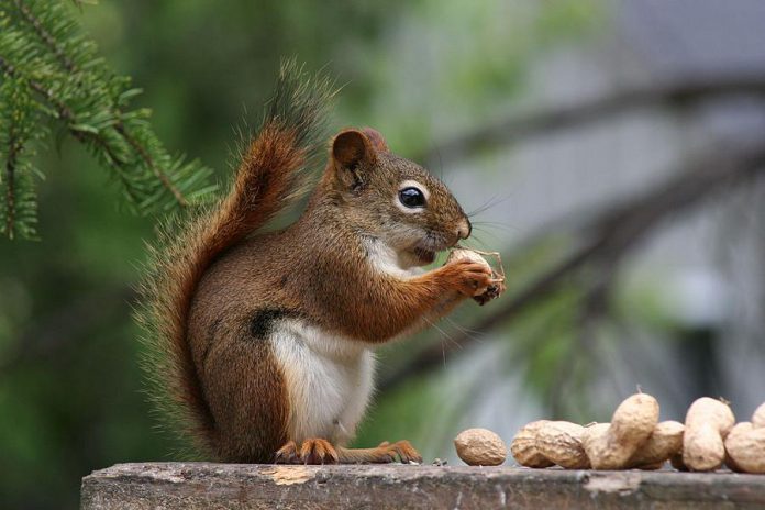
<svg viewBox="0 0 765 510">
<path fill-rule="evenodd" d="M 454 165 L 481 151 L 518 143 L 533 136 L 548 135 L 572 126 L 581 126 L 623 111 L 681 107 L 714 96 L 738 93 L 765 95 L 765 75 L 692 76 L 674 82 L 653 82 L 624 88 L 610 96 L 583 100 L 576 104 L 514 113 L 436 144 L 415 159 L 424 162 L 426 166 L 433 166 L 435 162 Z"/>
</svg>

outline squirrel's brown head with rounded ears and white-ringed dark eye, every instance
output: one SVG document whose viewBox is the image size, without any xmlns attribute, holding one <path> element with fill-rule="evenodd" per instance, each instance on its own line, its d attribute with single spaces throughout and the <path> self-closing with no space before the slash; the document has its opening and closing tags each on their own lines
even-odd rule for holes
<svg viewBox="0 0 765 510">
<path fill-rule="evenodd" d="M 346 130 L 332 141 L 325 179 L 343 218 L 384 242 L 407 265 L 470 235 L 470 222 L 446 186 L 419 165 L 390 153 L 375 130 Z"/>
</svg>

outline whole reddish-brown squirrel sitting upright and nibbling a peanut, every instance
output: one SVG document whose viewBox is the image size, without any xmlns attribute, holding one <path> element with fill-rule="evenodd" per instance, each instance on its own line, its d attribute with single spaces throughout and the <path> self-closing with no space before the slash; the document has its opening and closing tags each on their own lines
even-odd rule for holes
<svg viewBox="0 0 765 510">
<path fill-rule="evenodd" d="M 374 348 L 492 285 L 466 259 L 422 268 L 467 239 L 470 221 L 369 127 L 332 137 L 303 213 L 263 232 L 325 151 L 333 96 L 328 80 L 282 65 L 228 195 L 149 246 L 137 313 L 146 372 L 171 426 L 208 459 L 421 462 L 408 441 L 346 447 L 373 392 Z"/>
</svg>

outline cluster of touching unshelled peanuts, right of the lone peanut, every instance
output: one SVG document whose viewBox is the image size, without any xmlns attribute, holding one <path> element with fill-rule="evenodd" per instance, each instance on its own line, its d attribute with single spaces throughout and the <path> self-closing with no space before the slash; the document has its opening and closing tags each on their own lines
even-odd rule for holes
<svg viewBox="0 0 765 510">
<path fill-rule="evenodd" d="M 765 473 L 765 403 L 751 422 L 735 424 L 728 402 L 696 400 L 685 424 L 658 421 L 658 402 L 646 393 L 624 400 L 610 423 L 578 425 L 534 421 L 510 446 L 519 464 L 568 469 L 676 469 L 713 472 L 725 464 L 734 472 Z"/>
</svg>

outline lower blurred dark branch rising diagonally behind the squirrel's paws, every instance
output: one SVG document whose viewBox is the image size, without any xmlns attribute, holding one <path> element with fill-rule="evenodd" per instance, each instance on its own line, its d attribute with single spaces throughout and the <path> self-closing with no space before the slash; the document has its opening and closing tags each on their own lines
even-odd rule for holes
<svg viewBox="0 0 765 510">
<path fill-rule="evenodd" d="M 665 182 L 635 196 L 618 207 L 607 208 L 581 229 L 584 244 L 573 250 L 515 296 L 499 301 L 497 311 L 452 337 L 448 344 L 431 344 L 384 378 L 381 390 L 388 390 L 409 376 L 422 374 L 443 363 L 446 353 L 475 341 L 475 332 L 487 332 L 525 311 L 554 292 L 558 286 L 584 269 L 602 265 L 613 267 L 630 248 L 673 214 L 687 211 L 723 187 L 742 185 L 765 170 L 765 138 L 736 147 L 711 147 L 706 154 L 676 169 Z M 598 291 L 600 285 L 591 290 Z"/>
</svg>

